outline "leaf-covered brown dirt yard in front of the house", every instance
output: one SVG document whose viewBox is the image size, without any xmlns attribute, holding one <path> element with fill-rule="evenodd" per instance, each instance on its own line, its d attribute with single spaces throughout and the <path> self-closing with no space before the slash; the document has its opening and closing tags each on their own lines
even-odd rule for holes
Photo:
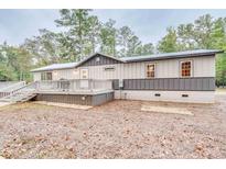
<svg viewBox="0 0 226 169">
<path fill-rule="evenodd" d="M 140 111 L 186 108 L 194 115 Z M 226 95 L 215 104 L 114 101 L 88 111 L 24 103 L 0 109 L 4 158 L 226 158 Z"/>
</svg>

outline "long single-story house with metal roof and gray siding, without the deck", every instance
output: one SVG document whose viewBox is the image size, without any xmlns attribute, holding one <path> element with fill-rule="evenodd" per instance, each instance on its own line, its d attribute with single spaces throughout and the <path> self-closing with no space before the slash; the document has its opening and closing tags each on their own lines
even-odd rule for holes
<svg viewBox="0 0 226 169">
<path fill-rule="evenodd" d="M 78 63 L 31 71 L 34 81 L 82 80 L 84 87 L 88 87 L 85 80 L 111 81 L 111 99 L 209 103 L 214 102 L 218 53 L 223 52 L 196 49 L 121 58 L 96 53 Z M 45 99 L 53 98 L 52 93 L 52 99 Z"/>
</svg>

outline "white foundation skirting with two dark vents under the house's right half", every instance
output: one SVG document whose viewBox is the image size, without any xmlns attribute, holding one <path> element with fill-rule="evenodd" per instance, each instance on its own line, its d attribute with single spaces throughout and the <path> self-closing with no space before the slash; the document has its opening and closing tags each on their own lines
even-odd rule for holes
<svg viewBox="0 0 226 169">
<path fill-rule="evenodd" d="M 115 99 L 214 103 L 215 91 L 116 90 Z"/>
</svg>

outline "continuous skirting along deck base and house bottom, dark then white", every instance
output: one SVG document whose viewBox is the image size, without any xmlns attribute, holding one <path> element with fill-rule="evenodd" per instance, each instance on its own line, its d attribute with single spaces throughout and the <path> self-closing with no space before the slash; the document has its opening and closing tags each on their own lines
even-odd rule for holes
<svg viewBox="0 0 226 169">
<path fill-rule="evenodd" d="M 100 105 L 114 99 L 214 103 L 214 93 L 215 91 L 115 90 L 98 94 L 37 93 L 34 100 L 80 105 Z"/>
</svg>

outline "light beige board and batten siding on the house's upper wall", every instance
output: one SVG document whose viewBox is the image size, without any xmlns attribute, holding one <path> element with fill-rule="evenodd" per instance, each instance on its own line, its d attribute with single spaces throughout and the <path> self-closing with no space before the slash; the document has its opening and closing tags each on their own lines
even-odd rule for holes
<svg viewBox="0 0 226 169">
<path fill-rule="evenodd" d="M 79 79 L 79 69 L 87 68 L 89 79 L 146 79 L 147 64 L 155 64 L 155 78 L 180 78 L 180 63 L 192 60 L 192 77 L 215 77 L 215 57 L 192 57 L 184 59 L 166 59 L 130 64 L 88 65 L 84 63 L 78 68 L 53 70 L 53 80 Z M 114 67 L 114 70 L 105 68 Z M 33 72 L 34 81 L 41 80 L 41 72 Z"/>
</svg>

